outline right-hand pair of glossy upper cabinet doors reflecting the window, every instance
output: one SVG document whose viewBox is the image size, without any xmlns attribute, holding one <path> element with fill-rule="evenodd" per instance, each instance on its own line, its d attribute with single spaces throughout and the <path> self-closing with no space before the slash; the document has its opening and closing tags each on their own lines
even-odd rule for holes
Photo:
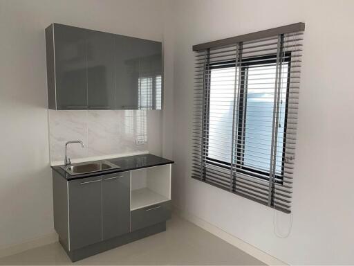
<svg viewBox="0 0 354 266">
<path fill-rule="evenodd" d="M 161 47 L 160 42 L 115 37 L 117 109 L 161 109 Z"/>
</svg>

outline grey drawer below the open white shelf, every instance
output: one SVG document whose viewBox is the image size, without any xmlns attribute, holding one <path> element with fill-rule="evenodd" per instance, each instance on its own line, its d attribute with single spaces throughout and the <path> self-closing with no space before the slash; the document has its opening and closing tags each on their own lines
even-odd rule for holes
<svg viewBox="0 0 354 266">
<path fill-rule="evenodd" d="M 131 231 L 171 219 L 171 201 L 131 211 Z"/>
</svg>

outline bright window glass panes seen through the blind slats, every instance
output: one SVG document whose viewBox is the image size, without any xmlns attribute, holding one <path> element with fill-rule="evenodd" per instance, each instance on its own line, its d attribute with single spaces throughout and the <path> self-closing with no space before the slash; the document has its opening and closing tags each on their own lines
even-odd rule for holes
<svg viewBox="0 0 354 266">
<path fill-rule="evenodd" d="M 282 62 L 283 77 L 281 82 L 281 103 L 279 106 L 279 122 L 277 137 L 277 163 L 278 179 L 282 179 L 283 163 L 285 159 L 285 143 L 283 135 L 286 134 L 286 103 L 288 76 L 291 55 L 288 53 Z M 276 82 L 277 55 L 266 57 L 251 57 L 240 64 L 243 77 L 240 85 L 239 119 L 236 127 L 236 161 L 233 163 L 239 172 L 268 179 L 270 172 L 270 152 L 272 120 L 261 113 L 274 112 L 274 84 Z M 239 68 L 240 68 L 239 67 Z M 231 165 L 231 157 L 223 157 L 223 151 L 231 154 L 233 100 L 235 82 L 235 62 L 219 62 L 209 67 L 209 116 L 207 138 L 207 161 L 219 165 Z M 265 84 L 263 80 L 266 80 Z M 218 141 L 218 132 L 223 134 L 226 141 Z M 261 132 L 261 133 L 260 133 Z M 209 134 L 210 133 L 210 134 Z M 261 138 L 257 138 L 262 134 Z"/>
</svg>

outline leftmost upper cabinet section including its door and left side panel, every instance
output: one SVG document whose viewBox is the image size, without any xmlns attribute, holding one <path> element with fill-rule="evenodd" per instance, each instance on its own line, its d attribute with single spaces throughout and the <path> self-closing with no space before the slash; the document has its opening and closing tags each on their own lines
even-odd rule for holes
<svg viewBox="0 0 354 266">
<path fill-rule="evenodd" d="M 52 24 L 46 28 L 48 107 L 87 107 L 86 30 Z"/>
</svg>

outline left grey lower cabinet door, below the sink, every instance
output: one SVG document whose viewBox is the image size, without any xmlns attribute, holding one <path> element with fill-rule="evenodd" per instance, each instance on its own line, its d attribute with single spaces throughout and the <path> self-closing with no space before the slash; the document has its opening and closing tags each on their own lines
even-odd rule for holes
<svg viewBox="0 0 354 266">
<path fill-rule="evenodd" d="M 102 179 L 68 181 L 70 249 L 102 240 Z"/>
</svg>

